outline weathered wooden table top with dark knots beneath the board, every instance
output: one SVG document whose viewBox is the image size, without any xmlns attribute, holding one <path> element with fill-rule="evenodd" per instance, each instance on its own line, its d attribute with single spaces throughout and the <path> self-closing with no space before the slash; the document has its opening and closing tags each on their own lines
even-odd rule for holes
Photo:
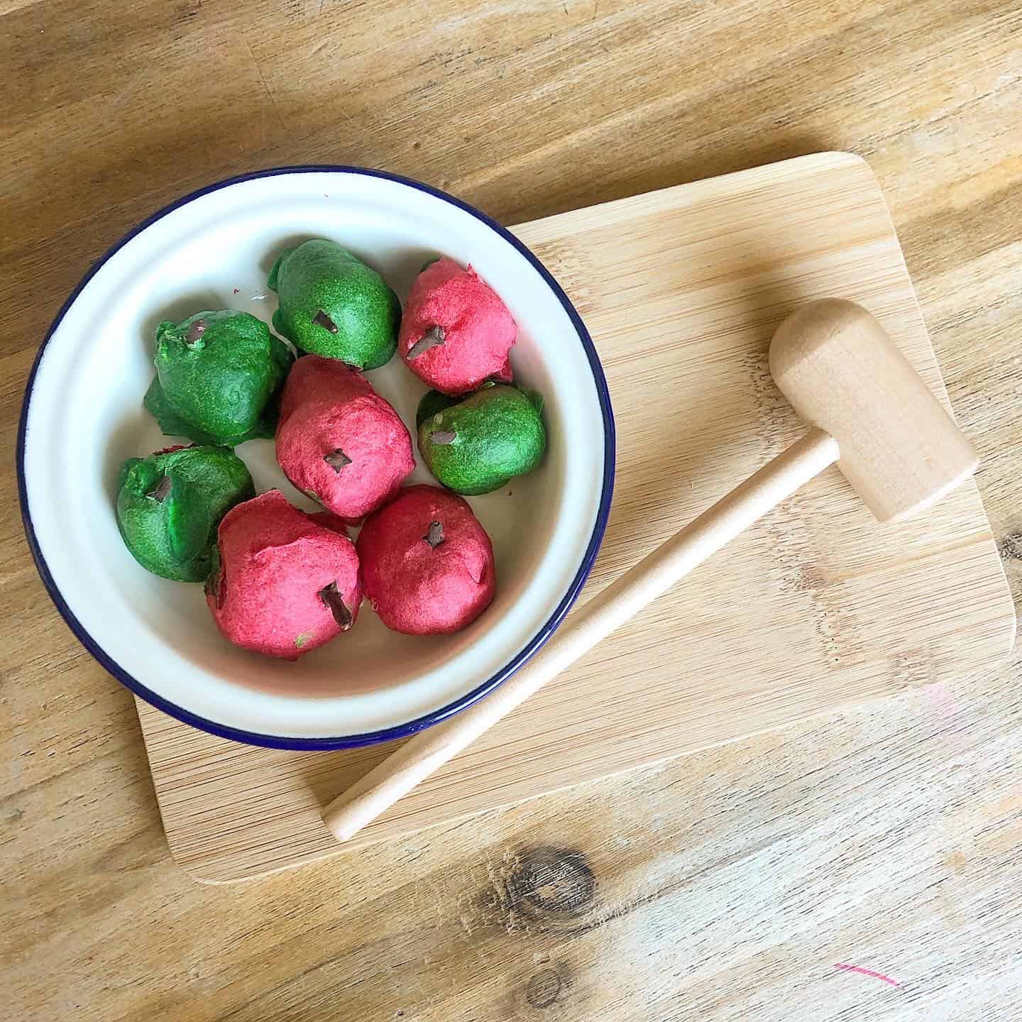
<svg viewBox="0 0 1022 1022">
<path fill-rule="evenodd" d="M 171 861 L 132 699 L 30 561 L 13 445 L 89 264 L 232 174 L 385 167 L 514 223 L 861 153 L 1020 593 L 1020 0 L 481 8 L 0 0 L 0 1018 L 1015 1017 L 1019 655 L 253 885 Z"/>
</svg>

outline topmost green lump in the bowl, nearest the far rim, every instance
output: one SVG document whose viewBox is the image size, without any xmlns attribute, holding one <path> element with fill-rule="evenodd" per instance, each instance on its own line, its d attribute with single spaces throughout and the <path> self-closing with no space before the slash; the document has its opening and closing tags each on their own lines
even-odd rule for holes
<svg viewBox="0 0 1022 1022">
<path fill-rule="evenodd" d="M 273 265 L 274 329 L 296 347 L 378 369 L 398 347 L 401 303 L 383 278 L 333 241 L 306 241 Z"/>
</svg>

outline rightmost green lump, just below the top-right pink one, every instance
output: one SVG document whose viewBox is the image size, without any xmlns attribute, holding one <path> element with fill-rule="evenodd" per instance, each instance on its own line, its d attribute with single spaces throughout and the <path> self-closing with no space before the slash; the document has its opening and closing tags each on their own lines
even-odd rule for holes
<svg viewBox="0 0 1022 1022">
<path fill-rule="evenodd" d="M 420 413 L 430 407 L 432 392 L 422 399 Z M 419 451 L 449 490 L 469 497 L 489 494 L 540 463 L 547 446 L 542 412 L 543 399 L 535 391 L 487 384 L 422 417 Z"/>
</svg>

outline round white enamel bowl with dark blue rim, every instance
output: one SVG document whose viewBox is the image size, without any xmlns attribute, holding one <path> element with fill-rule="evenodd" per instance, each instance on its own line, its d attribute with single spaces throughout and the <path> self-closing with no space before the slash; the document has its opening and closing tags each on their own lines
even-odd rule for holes
<svg viewBox="0 0 1022 1022">
<path fill-rule="evenodd" d="M 268 270 L 282 248 L 312 237 L 355 251 L 403 300 L 428 258 L 471 264 L 518 323 L 511 361 L 516 380 L 545 396 L 549 449 L 536 472 L 470 499 L 493 539 L 498 578 L 494 605 L 473 625 L 448 637 L 401 636 L 366 602 L 351 633 L 290 663 L 222 639 L 201 586 L 142 569 L 121 541 L 113 502 L 122 462 L 172 443 L 141 407 L 156 324 L 212 309 L 269 322 L 276 299 Z M 368 376 L 414 435 L 425 385 L 397 357 Z M 51 589 L 123 680 L 224 729 L 365 737 L 463 701 L 544 633 L 602 530 L 606 432 L 599 384 L 571 316 L 539 269 L 484 221 L 385 177 L 275 174 L 158 217 L 81 289 L 32 386 L 25 489 Z M 238 454 L 259 492 L 277 486 L 315 509 L 284 478 L 271 440 L 245 444 Z M 409 481 L 433 480 L 419 465 Z"/>
</svg>

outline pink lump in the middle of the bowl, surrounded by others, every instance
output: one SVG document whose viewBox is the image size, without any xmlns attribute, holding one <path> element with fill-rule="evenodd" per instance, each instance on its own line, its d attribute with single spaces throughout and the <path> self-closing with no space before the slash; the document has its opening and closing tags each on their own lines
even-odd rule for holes
<svg viewBox="0 0 1022 1022">
<path fill-rule="evenodd" d="M 342 451 L 350 464 L 325 460 Z M 281 396 L 277 461 L 304 493 L 357 521 L 389 500 L 415 468 L 412 437 L 361 373 L 334 359 L 298 359 Z"/>
</svg>

